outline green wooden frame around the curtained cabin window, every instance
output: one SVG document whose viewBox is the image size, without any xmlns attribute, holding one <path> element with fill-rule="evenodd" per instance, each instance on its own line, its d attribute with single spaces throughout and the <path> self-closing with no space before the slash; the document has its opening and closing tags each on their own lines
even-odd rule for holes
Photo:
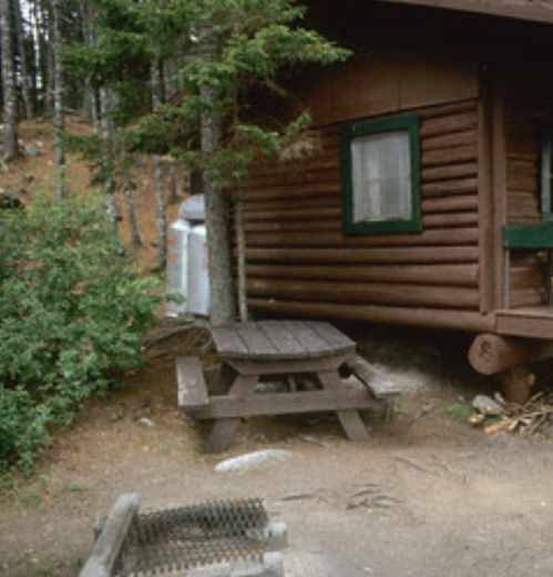
<svg viewBox="0 0 553 577">
<path fill-rule="evenodd" d="M 359 162 L 359 154 L 354 154 L 354 146 L 358 145 L 359 148 L 359 144 L 362 145 L 362 142 L 370 141 L 373 142 L 373 146 L 378 146 L 378 139 L 383 142 L 387 136 L 392 138 L 393 134 L 401 135 L 403 142 L 407 136 L 408 141 L 409 174 L 404 175 L 403 179 L 408 179 L 409 185 L 403 186 L 407 198 L 402 200 L 402 202 L 407 203 L 408 213 L 400 216 L 383 216 L 381 219 L 369 215 L 366 220 L 362 216 L 356 216 L 356 198 L 359 198 L 359 194 L 362 194 L 363 191 L 355 190 L 355 174 L 359 174 L 359 169 L 354 166 L 354 162 L 356 160 Z M 419 117 L 417 114 L 379 119 L 345 126 L 340 131 L 340 151 L 342 229 L 345 234 L 388 234 L 418 232 L 421 230 L 419 206 Z M 361 169 L 361 173 L 365 174 L 367 172 L 370 173 L 370 168 Z M 382 186 L 381 184 L 377 185 Z M 396 189 L 395 191 L 396 195 L 398 190 Z M 379 194 L 382 193 L 380 192 Z"/>
</svg>

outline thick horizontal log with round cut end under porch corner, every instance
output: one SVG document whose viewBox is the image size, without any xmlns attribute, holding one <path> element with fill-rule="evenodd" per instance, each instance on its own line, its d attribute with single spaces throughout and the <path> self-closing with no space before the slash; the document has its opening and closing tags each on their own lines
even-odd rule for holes
<svg viewBox="0 0 553 577">
<path fill-rule="evenodd" d="M 515 366 L 553 356 L 553 343 L 501 336 L 477 335 L 469 350 L 469 362 L 478 373 L 498 375 Z"/>
</svg>

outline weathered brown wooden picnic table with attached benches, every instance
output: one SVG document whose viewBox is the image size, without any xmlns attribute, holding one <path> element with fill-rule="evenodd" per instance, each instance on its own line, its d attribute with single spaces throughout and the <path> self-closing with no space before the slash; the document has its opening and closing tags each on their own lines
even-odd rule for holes
<svg viewBox="0 0 553 577">
<path fill-rule="evenodd" d="M 386 379 L 375 378 L 370 365 L 356 355 L 356 344 L 329 323 L 233 323 L 213 328 L 212 336 L 223 362 L 218 391 L 207 391 L 199 360 L 177 358 L 180 405 L 198 419 L 215 422 L 206 445 L 209 453 L 225 451 L 239 419 L 255 415 L 331 411 L 351 441 L 367 441 L 359 411 L 381 407 L 383 397 L 398 393 L 393 386 L 387 391 Z M 383 388 L 367 394 L 366 388 L 345 386 L 338 371 L 345 364 L 369 391 L 378 381 Z M 286 392 L 258 394 L 256 386 L 264 376 L 284 378 Z M 296 377 L 315 386 L 299 389 Z"/>
</svg>

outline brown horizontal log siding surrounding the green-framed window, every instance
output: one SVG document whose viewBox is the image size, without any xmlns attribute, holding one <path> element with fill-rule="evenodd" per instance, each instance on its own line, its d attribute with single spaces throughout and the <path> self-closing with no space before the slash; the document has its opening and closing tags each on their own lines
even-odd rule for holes
<svg viewBox="0 0 553 577">
<path fill-rule="evenodd" d="M 253 312 L 480 326 L 477 102 L 418 112 L 420 233 L 342 234 L 337 126 L 309 159 L 256 166 L 244 190 Z"/>
</svg>

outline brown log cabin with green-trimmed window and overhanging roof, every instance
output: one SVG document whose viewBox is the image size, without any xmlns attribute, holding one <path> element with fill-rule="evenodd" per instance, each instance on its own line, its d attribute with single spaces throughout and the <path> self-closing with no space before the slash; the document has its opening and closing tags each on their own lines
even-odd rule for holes
<svg viewBox="0 0 553 577">
<path fill-rule="evenodd" d="M 249 311 L 471 332 L 472 366 L 524 401 L 553 354 L 553 2 L 308 7 L 354 55 L 267 101 L 310 110 L 314 150 L 245 183 Z"/>
</svg>

